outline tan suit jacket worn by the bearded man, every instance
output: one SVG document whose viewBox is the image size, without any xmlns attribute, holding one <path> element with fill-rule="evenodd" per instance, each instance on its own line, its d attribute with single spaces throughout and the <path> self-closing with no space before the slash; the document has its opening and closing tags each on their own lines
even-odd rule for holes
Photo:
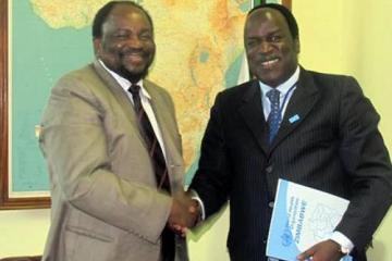
<svg viewBox="0 0 392 261">
<path fill-rule="evenodd" d="M 169 94 L 145 80 L 163 136 L 172 191 L 184 164 Z M 51 91 L 39 141 L 51 182 L 50 261 L 159 260 L 171 198 L 157 190 L 132 103 L 99 62 L 63 76 Z M 176 238 L 186 260 L 186 245 Z"/>
</svg>

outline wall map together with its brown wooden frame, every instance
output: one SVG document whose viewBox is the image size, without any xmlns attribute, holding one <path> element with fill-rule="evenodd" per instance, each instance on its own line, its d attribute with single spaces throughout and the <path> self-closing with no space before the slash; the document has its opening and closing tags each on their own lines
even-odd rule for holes
<svg viewBox="0 0 392 261">
<path fill-rule="evenodd" d="M 90 4 L 95 7 L 86 8 L 83 0 L 75 0 L 75 4 L 66 7 L 62 7 L 62 1 L 0 0 L 0 209 L 50 207 L 50 184 L 35 134 L 36 126 L 56 80 L 65 72 L 94 60 L 93 17 L 88 15 L 94 15 L 91 10 L 98 10 L 107 1 L 96 0 Z M 199 5 L 196 0 L 188 1 Z M 291 1 L 274 2 L 291 5 Z M 235 4 L 228 4 L 232 9 L 228 14 L 232 17 L 213 15 L 220 10 L 216 1 L 206 1 L 200 7 L 205 16 L 195 13 L 193 17 L 184 5 L 185 10 L 180 10 L 180 13 L 172 10 L 169 16 L 192 17 L 173 28 L 172 21 L 167 20 L 168 14 L 159 12 L 162 7 L 158 5 L 164 4 L 163 0 L 144 1 L 157 21 L 157 46 L 164 49 L 164 53 L 158 52 L 149 77 L 170 86 L 169 91 L 176 103 L 187 165 L 186 183 L 196 170 L 197 151 L 213 102 L 211 99 L 221 88 L 236 85 L 240 75 L 247 73 L 241 71 L 244 61 L 242 30 L 247 11 L 258 3 L 260 1 L 237 0 Z M 215 18 L 213 23 L 209 18 Z M 223 18 L 231 21 L 219 21 Z M 216 32 L 196 26 L 189 34 L 186 22 L 193 20 L 215 25 Z M 222 24 L 232 27 L 222 27 Z M 181 34 L 168 33 L 174 29 L 180 29 Z M 179 55 L 179 46 L 189 53 L 188 57 Z M 174 58 L 177 61 L 167 66 L 166 61 Z M 175 67 L 189 61 L 194 66 L 189 70 Z M 184 75 L 183 72 L 192 74 Z M 211 73 L 215 74 L 212 78 L 209 77 Z M 198 83 L 203 83 L 203 88 L 197 86 Z M 197 110 L 193 109 L 195 107 Z"/>
</svg>

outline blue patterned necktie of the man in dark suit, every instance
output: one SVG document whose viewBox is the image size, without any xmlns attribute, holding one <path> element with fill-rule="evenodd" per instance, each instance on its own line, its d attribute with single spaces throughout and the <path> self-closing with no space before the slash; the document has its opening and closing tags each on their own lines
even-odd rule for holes
<svg viewBox="0 0 392 261">
<path fill-rule="evenodd" d="M 277 89 L 271 89 L 267 91 L 266 96 L 271 102 L 271 111 L 268 115 L 268 126 L 269 126 L 269 144 L 272 144 L 273 138 L 278 134 L 279 125 L 281 122 L 281 111 L 279 104 L 280 91 Z"/>
</svg>

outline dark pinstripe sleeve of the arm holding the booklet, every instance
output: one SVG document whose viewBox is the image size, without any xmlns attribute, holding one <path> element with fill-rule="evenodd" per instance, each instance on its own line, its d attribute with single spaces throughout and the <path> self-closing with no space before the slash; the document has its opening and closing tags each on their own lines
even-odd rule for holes
<svg viewBox="0 0 392 261">
<path fill-rule="evenodd" d="M 392 199 L 392 167 L 378 129 L 380 116 L 352 77 L 340 102 L 340 159 L 351 176 L 351 202 L 336 229 L 357 248 L 370 243 Z"/>
</svg>

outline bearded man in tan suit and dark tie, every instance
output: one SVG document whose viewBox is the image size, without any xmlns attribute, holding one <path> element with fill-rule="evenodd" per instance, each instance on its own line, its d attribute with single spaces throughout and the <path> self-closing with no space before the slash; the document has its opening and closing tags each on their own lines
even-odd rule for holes
<svg viewBox="0 0 392 261">
<path fill-rule="evenodd" d="M 195 219 L 174 104 L 145 79 L 151 17 L 109 2 L 93 38 L 97 60 L 58 82 L 41 122 L 52 202 L 42 260 L 187 260 L 185 240 L 169 229 Z"/>
</svg>

